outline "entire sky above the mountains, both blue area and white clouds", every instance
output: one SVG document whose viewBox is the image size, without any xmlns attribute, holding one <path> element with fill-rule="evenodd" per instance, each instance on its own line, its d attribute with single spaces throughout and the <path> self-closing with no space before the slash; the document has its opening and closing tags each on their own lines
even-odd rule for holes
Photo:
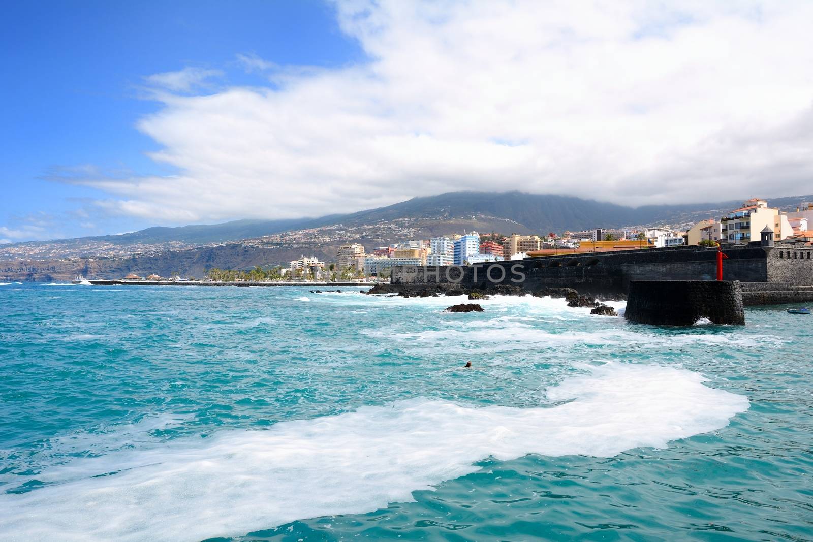
<svg viewBox="0 0 813 542">
<path fill-rule="evenodd" d="M 813 192 L 813 2 L 2 2 L 0 242 Z"/>
</svg>

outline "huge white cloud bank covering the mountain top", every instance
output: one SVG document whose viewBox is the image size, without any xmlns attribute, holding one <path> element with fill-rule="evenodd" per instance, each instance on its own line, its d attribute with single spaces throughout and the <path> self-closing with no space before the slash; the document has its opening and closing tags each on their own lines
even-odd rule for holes
<svg viewBox="0 0 813 542">
<path fill-rule="evenodd" d="M 813 192 L 811 2 L 359 0 L 337 16 L 367 63 L 161 95 L 138 126 L 179 174 L 87 180 L 111 194 L 99 204 L 190 222 L 459 189 L 633 204 Z M 182 92 L 202 72 L 150 80 Z"/>
</svg>

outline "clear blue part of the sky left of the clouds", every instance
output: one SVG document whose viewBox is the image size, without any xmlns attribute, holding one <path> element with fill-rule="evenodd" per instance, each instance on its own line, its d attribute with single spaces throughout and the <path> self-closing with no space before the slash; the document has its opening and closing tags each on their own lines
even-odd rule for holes
<svg viewBox="0 0 813 542">
<path fill-rule="evenodd" d="M 159 108 L 145 96 L 146 76 L 191 66 L 256 85 L 263 81 L 238 65 L 237 54 L 328 67 L 362 56 L 339 31 L 333 7 L 258 0 L 3 2 L 0 51 L 0 226 L 23 234 L 12 241 L 154 225 L 92 207 L 84 216 L 83 202 L 105 197 L 102 191 L 47 180 L 84 165 L 114 174 L 172 172 L 146 156 L 159 145 L 135 128 Z"/>
</svg>

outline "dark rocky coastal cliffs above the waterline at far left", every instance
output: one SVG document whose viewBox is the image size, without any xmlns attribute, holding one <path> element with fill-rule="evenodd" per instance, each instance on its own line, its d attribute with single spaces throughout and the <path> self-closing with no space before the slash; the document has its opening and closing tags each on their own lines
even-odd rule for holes
<svg viewBox="0 0 813 542">
<path fill-rule="evenodd" d="M 258 247 L 250 245 L 222 245 L 211 248 L 179 250 L 132 258 L 66 258 L 50 260 L 0 261 L 0 281 L 50 282 L 73 280 L 75 275 L 87 279 L 120 279 L 129 273 L 149 275 L 156 273 L 170 277 L 178 274 L 202 278 L 212 267 L 221 269 L 248 269 L 267 267 L 298 258 L 302 251 L 325 257 L 333 254 L 334 247 L 321 249 Z"/>
</svg>

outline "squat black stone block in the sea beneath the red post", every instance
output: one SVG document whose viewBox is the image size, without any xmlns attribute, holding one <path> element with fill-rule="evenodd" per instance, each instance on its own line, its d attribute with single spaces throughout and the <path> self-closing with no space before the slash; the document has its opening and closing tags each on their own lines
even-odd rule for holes
<svg viewBox="0 0 813 542">
<path fill-rule="evenodd" d="M 713 323 L 746 323 L 738 280 L 633 281 L 624 318 L 672 326 L 690 326 L 702 318 Z"/>
</svg>

